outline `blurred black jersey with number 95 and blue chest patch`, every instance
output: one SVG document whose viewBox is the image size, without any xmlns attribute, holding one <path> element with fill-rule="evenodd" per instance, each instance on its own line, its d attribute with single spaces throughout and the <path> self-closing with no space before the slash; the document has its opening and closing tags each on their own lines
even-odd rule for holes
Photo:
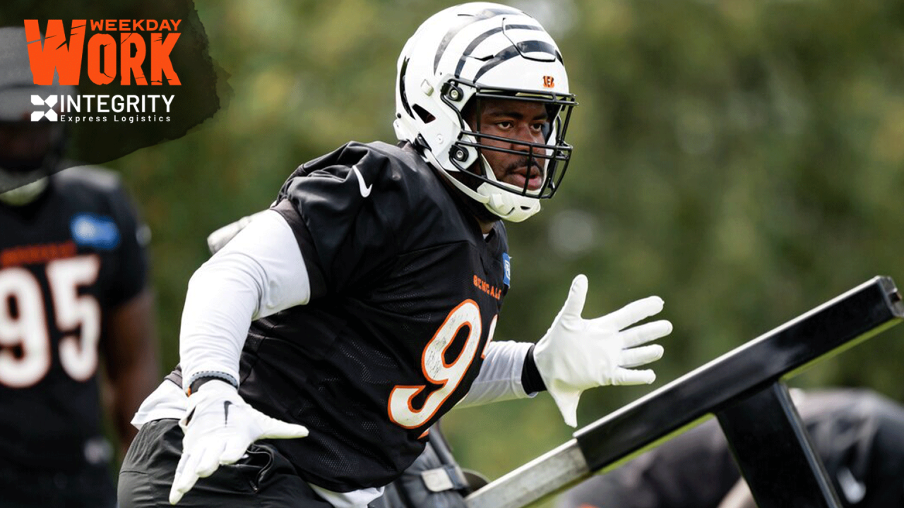
<svg viewBox="0 0 904 508">
<path fill-rule="evenodd" d="M 118 178 L 97 168 L 54 174 L 26 206 L 0 203 L 0 465 L 74 469 L 97 455 L 102 317 L 145 286 L 137 230 Z"/>
</svg>

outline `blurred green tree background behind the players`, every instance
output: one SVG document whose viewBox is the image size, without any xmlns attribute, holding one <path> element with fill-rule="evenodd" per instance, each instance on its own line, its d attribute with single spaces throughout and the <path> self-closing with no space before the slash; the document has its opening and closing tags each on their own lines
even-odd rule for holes
<svg viewBox="0 0 904 508">
<path fill-rule="evenodd" d="M 508 3 L 557 39 L 580 106 L 563 188 L 509 228 L 496 339 L 537 340 L 577 273 L 590 279 L 585 315 L 656 294 L 674 324 L 658 381 L 586 393 L 580 425 L 874 275 L 904 282 L 904 3 Z M 154 233 L 165 369 L 206 235 L 266 208 L 300 163 L 350 139 L 394 140 L 396 58 L 447 5 L 195 0 L 228 108 L 111 164 Z M 904 400 L 902 338 L 892 329 L 792 384 Z M 571 432 L 547 394 L 454 411 L 444 428 L 491 478 Z"/>
</svg>

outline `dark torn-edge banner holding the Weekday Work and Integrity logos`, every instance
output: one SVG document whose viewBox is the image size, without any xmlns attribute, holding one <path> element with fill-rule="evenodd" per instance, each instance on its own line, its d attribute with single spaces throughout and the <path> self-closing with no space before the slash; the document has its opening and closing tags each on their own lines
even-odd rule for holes
<svg viewBox="0 0 904 508">
<path fill-rule="evenodd" d="M 14 65 L 0 67 L 0 86 L 18 90 L 0 113 L 66 126 L 61 166 L 179 140 L 229 106 L 230 74 L 210 54 L 194 0 L 0 5 L 0 63 Z"/>
</svg>

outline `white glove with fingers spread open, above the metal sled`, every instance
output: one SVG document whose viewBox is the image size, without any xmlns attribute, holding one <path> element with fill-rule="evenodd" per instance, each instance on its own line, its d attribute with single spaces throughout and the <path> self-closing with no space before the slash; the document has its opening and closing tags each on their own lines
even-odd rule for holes
<svg viewBox="0 0 904 508">
<path fill-rule="evenodd" d="M 666 320 L 628 328 L 663 310 L 659 296 L 648 296 L 595 319 L 580 316 L 586 297 L 587 277 L 581 274 L 571 282 L 568 299 L 549 331 L 533 348 L 537 370 L 571 427 L 578 425 L 578 400 L 583 390 L 653 382 L 653 371 L 630 367 L 659 360 L 663 346 L 635 346 L 672 333 L 672 324 Z"/>
</svg>

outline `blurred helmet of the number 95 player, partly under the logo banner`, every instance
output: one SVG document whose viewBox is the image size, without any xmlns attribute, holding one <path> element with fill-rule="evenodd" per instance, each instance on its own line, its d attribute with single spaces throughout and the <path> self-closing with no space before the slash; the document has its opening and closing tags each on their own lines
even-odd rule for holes
<svg viewBox="0 0 904 508">
<path fill-rule="evenodd" d="M 0 28 L 0 201 L 22 205 L 47 186 L 66 137 L 65 124 L 49 118 L 56 120 L 60 98 L 74 93 L 71 86 L 35 85 L 24 28 Z"/>
</svg>

